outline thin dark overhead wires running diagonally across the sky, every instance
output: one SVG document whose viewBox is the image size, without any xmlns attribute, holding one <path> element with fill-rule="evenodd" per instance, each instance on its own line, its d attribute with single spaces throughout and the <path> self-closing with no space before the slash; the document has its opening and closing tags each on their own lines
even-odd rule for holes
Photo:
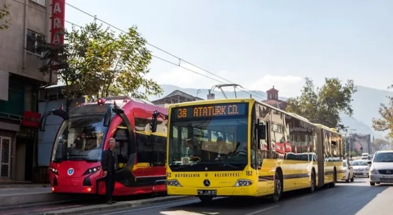
<svg viewBox="0 0 393 215">
<path fill-rule="evenodd" d="M 13 1 L 13 2 L 16 2 L 16 3 L 19 3 L 19 4 L 21 4 L 21 5 L 25 5 L 25 6 L 27 6 L 27 7 L 33 8 L 33 9 L 39 11 L 39 12 L 42 12 L 42 13 L 45 13 L 45 14 L 47 14 L 47 15 L 52 16 L 52 14 L 47 13 L 46 11 L 39 10 L 39 9 L 37 9 L 37 8 L 35 8 L 35 7 L 32 7 L 32 6 L 28 5 L 28 4 L 25 4 L 25 3 L 23 3 L 23 2 L 19 2 L 19 1 L 17 1 L 17 0 L 12 0 L 12 1 Z M 116 30 L 119 30 L 119 31 L 123 32 L 123 33 L 127 33 L 126 31 L 124 31 L 124 30 L 122 30 L 122 29 L 120 29 L 120 28 L 118 28 L 118 27 L 116 27 L 116 26 L 114 26 L 114 25 L 112 25 L 112 24 L 107 23 L 107 22 L 105 22 L 104 20 L 102 20 L 102 19 L 100 19 L 100 18 L 97 18 L 97 16 L 94 16 L 94 15 L 88 13 L 88 12 L 85 12 L 85 11 L 83 11 L 83 10 L 81 10 L 81 9 L 79 9 L 79 8 L 77 8 L 77 7 L 75 7 L 75 6 L 71 5 L 71 4 L 69 4 L 69 3 L 64 2 L 63 0 L 59 0 L 59 1 L 60 1 L 60 2 L 63 2 L 64 4 L 66 4 L 66 5 L 68 5 L 68 6 L 72 7 L 72 8 L 74 8 L 74 9 L 76 9 L 76 10 L 78 10 L 78 11 L 80 11 L 80 12 L 86 14 L 86 15 L 89 15 L 89 16 L 93 17 L 95 20 L 99 20 L 99 21 L 102 22 L 103 24 L 106 24 L 106 25 L 108 25 L 108 26 L 110 26 L 110 27 L 112 27 L 112 28 L 114 28 L 114 29 L 116 29 Z M 60 18 L 60 19 L 61 19 L 61 18 Z M 62 20 L 63 20 L 65 23 L 68 23 L 68 24 L 71 24 L 71 25 L 73 25 L 73 26 L 82 28 L 82 26 L 79 26 L 79 25 L 77 25 L 77 24 L 75 24 L 75 23 L 69 22 L 68 20 L 65 20 L 65 19 L 62 19 Z M 153 47 L 153 48 L 155 48 L 155 49 L 157 49 L 157 50 L 159 50 L 159 51 L 161 51 L 161 52 L 164 52 L 165 54 L 168 54 L 168 55 L 170 55 L 170 56 L 172 56 L 172 57 L 174 57 L 174 58 L 177 58 L 177 59 L 179 60 L 179 63 L 171 62 L 171 61 L 169 61 L 169 60 L 163 59 L 163 58 L 158 57 L 158 56 L 156 56 L 156 55 L 151 55 L 152 57 L 155 57 L 155 58 L 157 58 L 157 59 L 159 59 L 159 60 L 162 60 L 162 61 L 164 61 L 164 62 L 170 63 L 170 64 L 172 64 L 172 65 L 174 65 L 174 66 L 180 67 L 180 68 L 182 68 L 182 69 L 185 69 L 185 70 L 187 70 L 187 71 L 189 71 L 189 72 L 192 72 L 192 73 L 201 75 L 201 76 L 203 76 L 203 77 L 209 78 L 209 79 L 214 80 L 214 81 L 216 81 L 216 82 L 219 82 L 219 83 L 222 83 L 222 84 L 226 84 L 226 83 L 223 82 L 223 81 L 217 80 L 217 79 L 215 79 L 215 78 L 209 77 L 209 76 L 207 76 L 207 75 L 205 75 L 205 74 L 202 74 L 202 73 L 200 73 L 200 72 L 197 72 L 197 71 L 194 71 L 194 70 L 191 70 L 191 69 L 189 69 L 189 68 L 186 68 L 186 67 L 181 66 L 181 65 L 180 65 L 180 62 L 183 61 L 183 62 L 187 63 L 188 65 L 190 65 L 190 66 L 192 66 L 192 67 L 195 67 L 195 68 L 197 68 L 197 69 L 200 69 L 200 70 L 202 70 L 202 71 L 204 71 L 204 72 L 206 72 L 206 73 L 208 73 L 208 74 L 211 74 L 211 75 L 213 75 L 213 76 L 215 76 L 215 77 L 221 78 L 221 79 L 223 79 L 223 80 L 225 80 L 225 81 L 227 81 L 227 82 L 229 82 L 229 83 L 236 84 L 236 83 L 234 83 L 234 82 L 232 82 L 232 81 L 230 81 L 230 80 L 228 80 L 228 79 L 225 79 L 225 78 L 223 78 L 223 77 L 221 77 L 221 76 L 219 76 L 219 75 L 216 75 L 216 74 L 214 74 L 214 73 L 212 73 L 212 72 L 210 72 L 210 71 L 208 71 L 208 70 L 205 70 L 205 69 L 203 69 L 203 68 L 201 68 L 201 67 L 199 67 L 199 66 L 197 66 L 197 65 L 194 65 L 193 63 L 190 63 L 190 62 L 188 62 L 188 61 L 186 61 L 186 60 L 183 60 L 182 58 L 180 58 L 180 57 L 178 57 L 178 56 L 176 56 L 176 55 L 174 55 L 174 54 L 171 54 L 170 52 L 165 51 L 165 50 L 163 50 L 163 49 L 161 49 L 161 48 L 159 48 L 159 47 L 157 47 L 157 46 L 155 46 L 155 45 L 152 45 L 152 44 L 150 44 L 149 42 L 146 42 L 146 44 L 149 45 L 149 46 L 151 46 L 151 47 Z M 236 84 L 236 85 L 237 85 L 237 84 Z M 259 98 L 262 98 L 262 99 L 267 98 L 266 95 L 260 94 L 260 93 L 258 93 L 258 92 L 255 92 L 255 91 L 253 91 L 253 90 L 250 90 L 250 89 L 247 89 L 247 88 L 244 88 L 244 87 L 242 87 L 242 88 L 237 88 L 237 87 L 235 87 L 235 89 L 241 90 L 241 91 L 243 91 L 244 93 L 253 95 L 253 96 L 255 96 L 255 97 L 262 96 L 262 97 L 259 97 Z M 249 92 L 246 92 L 246 91 L 243 90 L 243 89 L 248 90 Z M 250 92 L 252 92 L 253 94 L 250 93 Z M 256 94 L 256 95 L 255 95 L 255 94 Z M 259 95 L 259 96 L 258 96 L 258 95 Z"/>
</svg>

